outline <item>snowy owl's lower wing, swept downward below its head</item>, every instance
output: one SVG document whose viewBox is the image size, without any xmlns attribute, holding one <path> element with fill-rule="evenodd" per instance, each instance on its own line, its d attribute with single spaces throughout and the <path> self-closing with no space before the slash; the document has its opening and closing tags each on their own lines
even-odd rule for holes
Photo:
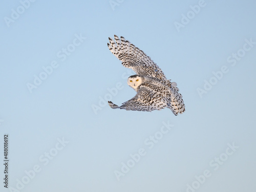
<svg viewBox="0 0 256 192">
<path fill-rule="evenodd" d="M 122 103 L 121 106 L 108 101 L 112 109 L 124 109 L 132 111 L 154 111 L 164 109 L 167 104 L 162 98 L 156 96 L 152 90 L 141 87 L 137 94 L 130 100 Z"/>
</svg>

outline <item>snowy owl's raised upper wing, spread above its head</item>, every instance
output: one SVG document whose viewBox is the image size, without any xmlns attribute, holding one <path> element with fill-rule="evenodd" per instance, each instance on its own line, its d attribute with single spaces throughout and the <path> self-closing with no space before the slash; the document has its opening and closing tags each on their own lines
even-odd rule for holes
<svg viewBox="0 0 256 192">
<path fill-rule="evenodd" d="M 142 50 L 131 44 L 124 37 L 115 36 L 116 42 L 109 37 L 110 51 L 122 61 L 122 65 L 132 69 L 137 75 L 156 77 L 161 80 L 166 80 L 165 75 L 158 65 L 147 56 Z"/>
</svg>

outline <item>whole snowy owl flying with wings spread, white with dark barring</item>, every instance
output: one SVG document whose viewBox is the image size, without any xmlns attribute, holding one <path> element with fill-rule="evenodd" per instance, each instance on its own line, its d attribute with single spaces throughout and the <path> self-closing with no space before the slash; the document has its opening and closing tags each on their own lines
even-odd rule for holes
<svg viewBox="0 0 256 192">
<path fill-rule="evenodd" d="M 115 36 L 115 41 L 109 37 L 108 47 L 110 51 L 122 61 L 122 65 L 132 69 L 136 75 L 127 79 L 127 84 L 137 94 L 121 106 L 111 101 L 112 109 L 125 109 L 133 111 L 153 111 L 169 108 L 174 115 L 183 113 L 185 105 L 182 95 L 178 92 L 176 82 L 166 79 L 158 65 L 143 51 L 135 47 L 124 37 Z"/>
</svg>

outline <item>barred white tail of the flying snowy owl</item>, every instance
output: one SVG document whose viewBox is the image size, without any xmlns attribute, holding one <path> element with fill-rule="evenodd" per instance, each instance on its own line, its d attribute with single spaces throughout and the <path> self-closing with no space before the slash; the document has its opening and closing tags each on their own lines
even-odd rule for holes
<svg viewBox="0 0 256 192">
<path fill-rule="evenodd" d="M 178 92 L 179 88 L 176 87 L 177 83 L 172 82 L 171 94 L 167 108 L 172 110 L 174 115 L 182 114 L 185 111 L 184 101 L 182 95 Z"/>
</svg>

